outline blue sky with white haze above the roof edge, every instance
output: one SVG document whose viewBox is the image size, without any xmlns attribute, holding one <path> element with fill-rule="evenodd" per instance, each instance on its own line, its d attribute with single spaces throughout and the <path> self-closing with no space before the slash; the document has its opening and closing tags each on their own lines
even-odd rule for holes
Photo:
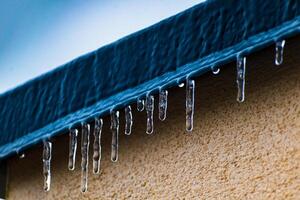
<svg viewBox="0 0 300 200">
<path fill-rule="evenodd" d="M 2 0 L 0 93 L 203 0 Z"/>
</svg>

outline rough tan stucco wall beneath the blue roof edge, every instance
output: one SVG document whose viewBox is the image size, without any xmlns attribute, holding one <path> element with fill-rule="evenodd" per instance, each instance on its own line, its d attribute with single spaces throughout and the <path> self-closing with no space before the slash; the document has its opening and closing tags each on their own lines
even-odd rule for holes
<svg viewBox="0 0 300 200">
<path fill-rule="evenodd" d="M 42 190 L 41 147 L 11 159 L 8 199 L 299 199 L 299 41 L 287 41 L 280 67 L 273 65 L 273 47 L 248 57 L 243 104 L 235 101 L 234 63 L 217 76 L 198 78 L 192 134 L 184 131 L 183 88 L 170 89 L 168 118 L 155 121 L 153 135 L 145 134 L 145 113 L 134 113 L 133 134 L 121 128 L 117 163 L 110 162 L 106 118 L 102 173 L 93 175 L 90 163 L 85 194 L 80 156 L 76 170 L 67 170 L 66 136 L 54 139 L 48 193 Z"/>
</svg>

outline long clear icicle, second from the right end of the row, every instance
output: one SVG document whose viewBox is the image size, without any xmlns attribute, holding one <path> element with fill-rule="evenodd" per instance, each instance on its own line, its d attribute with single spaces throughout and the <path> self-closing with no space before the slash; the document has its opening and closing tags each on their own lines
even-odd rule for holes
<svg viewBox="0 0 300 200">
<path fill-rule="evenodd" d="M 246 73 L 246 57 L 237 57 L 237 101 L 243 102 L 245 100 L 245 73 Z"/>
</svg>

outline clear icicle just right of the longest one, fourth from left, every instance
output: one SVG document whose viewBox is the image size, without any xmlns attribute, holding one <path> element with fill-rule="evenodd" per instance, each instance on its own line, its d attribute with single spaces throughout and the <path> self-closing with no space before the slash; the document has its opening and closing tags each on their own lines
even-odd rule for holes
<svg viewBox="0 0 300 200">
<path fill-rule="evenodd" d="M 94 174 L 100 173 L 102 126 L 103 126 L 103 120 L 95 118 L 94 146 L 93 146 L 93 172 L 94 172 Z"/>
</svg>

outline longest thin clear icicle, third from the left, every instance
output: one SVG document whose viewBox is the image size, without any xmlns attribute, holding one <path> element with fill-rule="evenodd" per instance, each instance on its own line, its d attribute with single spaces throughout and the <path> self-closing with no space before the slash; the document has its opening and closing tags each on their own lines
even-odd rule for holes
<svg viewBox="0 0 300 200">
<path fill-rule="evenodd" d="M 81 192 L 86 192 L 89 165 L 90 125 L 83 122 L 81 127 Z"/>
</svg>

